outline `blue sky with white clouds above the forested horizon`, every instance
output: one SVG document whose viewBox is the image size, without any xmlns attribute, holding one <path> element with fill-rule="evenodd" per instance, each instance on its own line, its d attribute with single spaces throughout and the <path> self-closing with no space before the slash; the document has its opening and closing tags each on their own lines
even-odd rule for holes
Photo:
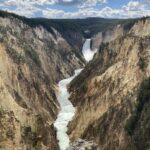
<svg viewBox="0 0 150 150">
<path fill-rule="evenodd" d="M 135 18 L 150 16 L 150 0 L 0 0 L 0 9 L 29 18 Z"/>
</svg>

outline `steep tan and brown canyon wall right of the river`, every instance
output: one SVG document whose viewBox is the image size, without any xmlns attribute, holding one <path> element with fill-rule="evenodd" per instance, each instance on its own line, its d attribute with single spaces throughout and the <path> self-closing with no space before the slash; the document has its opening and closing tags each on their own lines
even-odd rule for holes
<svg viewBox="0 0 150 150">
<path fill-rule="evenodd" d="M 71 82 L 70 100 L 77 107 L 68 131 L 72 141 L 94 140 L 102 150 L 150 148 L 149 27 L 150 19 L 140 20 L 125 35 L 101 44 Z"/>
</svg>

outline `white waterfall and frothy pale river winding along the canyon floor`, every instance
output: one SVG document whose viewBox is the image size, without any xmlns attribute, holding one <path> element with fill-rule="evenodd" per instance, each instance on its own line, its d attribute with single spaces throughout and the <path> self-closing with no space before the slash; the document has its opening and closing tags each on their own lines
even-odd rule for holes
<svg viewBox="0 0 150 150">
<path fill-rule="evenodd" d="M 83 45 L 82 53 L 87 61 L 90 61 L 94 53 L 90 49 L 91 39 L 87 39 Z M 54 123 L 55 128 L 57 129 L 57 139 L 59 141 L 60 150 L 66 150 L 69 147 L 69 136 L 67 135 L 67 125 L 72 120 L 75 115 L 75 107 L 69 101 L 69 93 L 67 91 L 67 85 L 77 76 L 82 69 L 75 70 L 75 74 L 68 78 L 61 80 L 58 84 L 59 93 L 58 101 L 60 103 L 61 111 L 59 112 L 57 119 Z"/>
</svg>

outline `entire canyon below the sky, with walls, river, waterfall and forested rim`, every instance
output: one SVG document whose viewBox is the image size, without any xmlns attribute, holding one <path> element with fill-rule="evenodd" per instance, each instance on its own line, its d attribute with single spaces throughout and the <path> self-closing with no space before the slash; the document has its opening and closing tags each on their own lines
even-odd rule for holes
<svg viewBox="0 0 150 150">
<path fill-rule="evenodd" d="M 0 150 L 149 150 L 149 43 L 149 17 L 0 11 Z"/>
</svg>

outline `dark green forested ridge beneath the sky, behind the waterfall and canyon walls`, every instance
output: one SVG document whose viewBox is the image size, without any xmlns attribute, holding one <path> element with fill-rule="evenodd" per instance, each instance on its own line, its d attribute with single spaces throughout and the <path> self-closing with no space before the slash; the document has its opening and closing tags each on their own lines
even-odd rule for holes
<svg viewBox="0 0 150 150">
<path fill-rule="evenodd" d="M 52 27 L 57 29 L 62 35 L 64 32 L 75 31 L 80 32 L 83 36 L 85 35 L 85 30 L 90 31 L 89 36 L 93 36 L 98 32 L 103 32 L 109 28 L 113 28 L 117 24 L 122 24 L 125 28 L 133 25 L 141 18 L 135 19 L 111 19 L 111 18 L 98 18 L 89 17 L 84 19 L 48 19 L 48 18 L 27 18 L 24 16 L 19 16 L 14 13 L 0 10 L 1 17 L 14 17 L 22 20 L 24 23 L 31 27 L 43 26 L 49 32 L 53 33 Z M 90 21 L 89 21 L 90 20 Z"/>
</svg>

